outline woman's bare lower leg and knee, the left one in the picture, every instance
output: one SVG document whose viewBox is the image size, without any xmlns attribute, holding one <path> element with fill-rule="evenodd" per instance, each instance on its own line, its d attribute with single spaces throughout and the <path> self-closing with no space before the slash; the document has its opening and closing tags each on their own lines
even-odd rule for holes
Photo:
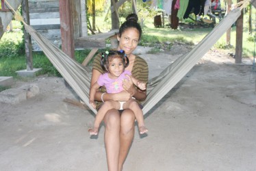
<svg viewBox="0 0 256 171">
<path fill-rule="evenodd" d="M 107 111 L 105 122 L 105 149 L 107 153 L 108 171 L 118 171 L 120 150 L 120 114 L 116 109 Z"/>
</svg>

